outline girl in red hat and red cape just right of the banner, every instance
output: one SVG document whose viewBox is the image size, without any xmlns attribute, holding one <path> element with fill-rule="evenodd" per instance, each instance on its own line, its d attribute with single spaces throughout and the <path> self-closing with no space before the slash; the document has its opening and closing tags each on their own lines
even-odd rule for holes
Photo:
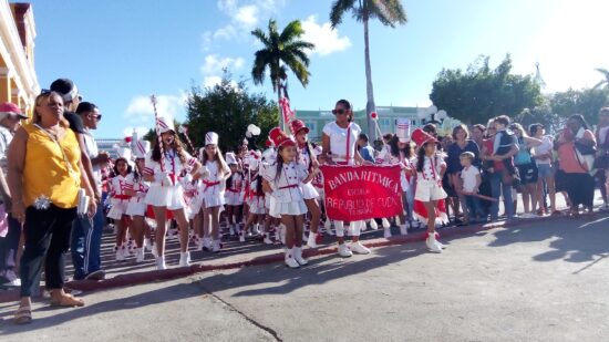
<svg viewBox="0 0 609 342">
<path fill-rule="evenodd" d="M 427 248 L 433 252 L 442 252 L 443 245 L 437 241 L 435 224 L 447 221 L 446 193 L 442 188 L 442 176 L 446 172 L 446 163 L 436 151 L 437 141 L 416 128 L 412 141 L 419 146 L 416 159 L 416 189 L 414 193 L 414 215 L 427 224 Z"/>
</svg>

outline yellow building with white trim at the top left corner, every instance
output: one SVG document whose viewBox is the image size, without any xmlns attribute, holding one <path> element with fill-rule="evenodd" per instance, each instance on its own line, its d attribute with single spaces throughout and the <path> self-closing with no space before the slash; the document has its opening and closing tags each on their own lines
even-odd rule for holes
<svg viewBox="0 0 609 342">
<path fill-rule="evenodd" d="M 12 102 L 30 115 L 40 94 L 34 38 L 32 6 L 0 0 L 0 102 Z"/>
</svg>

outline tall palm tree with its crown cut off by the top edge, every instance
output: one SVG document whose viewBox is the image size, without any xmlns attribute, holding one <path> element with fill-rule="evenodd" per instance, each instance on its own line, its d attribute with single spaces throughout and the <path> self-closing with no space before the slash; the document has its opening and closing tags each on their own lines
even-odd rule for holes
<svg viewBox="0 0 609 342">
<path fill-rule="evenodd" d="M 375 105 L 374 91 L 372 89 L 372 70 L 370 68 L 368 22 L 370 19 L 379 19 L 382 24 L 395 28 L 396 24 L 406 23 L 406 12 L 400 0 L 336 0 L 330 11 L 330 23 L 332 29 L 337 28 L 342 22 L 342 17 L 347 12 L 351 12 L 357 21 L 363 22 L 363 41 L 365 45 L 365 93 L 368 97 L 365 112 L 370 114 L 375 111 Z M 374 136 L 376 139 L 376 132 L 372 126 L 372 120 L 370 115 L 367 115 L 367 117 L 370 136 Z"/>
</svg>

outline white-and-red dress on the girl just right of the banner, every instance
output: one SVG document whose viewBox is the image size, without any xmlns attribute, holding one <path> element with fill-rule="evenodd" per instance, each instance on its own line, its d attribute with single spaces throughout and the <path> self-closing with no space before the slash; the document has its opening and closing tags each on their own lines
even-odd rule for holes
<svg viewBox="0 0 609 342">
<path fill-rule="evenodd" d="M 416 165 L 417 160 L 414 159 L 413 164 Z M 435 221 L 436 224 L 447 222 L 448 216 L 446 215 L 446 191 L 442 188 L 442 177 L 440 172 L 446 164 L 441 155 L 436 154 L 433 158 L 425 156 L 423 164 L 423 172 L 416 173 L 416 183 L 414 191 L 414 217 L 423 224 L 427 224 L 427 209 L 423 203 L 435 200 Z"/>
</svg>

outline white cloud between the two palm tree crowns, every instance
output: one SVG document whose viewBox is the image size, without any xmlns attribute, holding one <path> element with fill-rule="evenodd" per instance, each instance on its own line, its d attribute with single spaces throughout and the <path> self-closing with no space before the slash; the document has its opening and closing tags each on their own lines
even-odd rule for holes
<svg viewBox="0 0 609 342">
<path fill-rule="evenodd" d="M 316 44 L 312 53 L 327 55 L 344 51 L 351 46 L 351 41 L 348 37 L 340 37 L 338 30 L 332 30 L 330 22 L 318 24 L 316 15 L 309 15 L 309 18 L 302 21 L 302 29 L 304 30 L 302 40 Z"/>
</svg>

